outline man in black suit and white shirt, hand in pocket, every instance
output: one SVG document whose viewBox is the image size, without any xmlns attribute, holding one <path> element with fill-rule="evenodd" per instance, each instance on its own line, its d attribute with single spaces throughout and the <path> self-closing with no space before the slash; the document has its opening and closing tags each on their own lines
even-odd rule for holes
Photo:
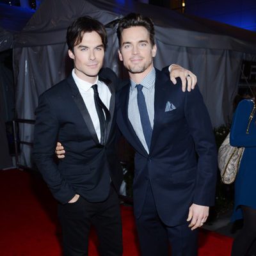
<svg viewBox="0 0 256 256">
<path fill-rule="evenodd" d="M 106 30 L 99 21 L 81 17 L 68 28 L 67 44 L 74 70 L 39 98 L 33 157 L 60 202 L 64 255 L 88 255 L 88 234 L 94 225 L 100 255 L 120 256 L 122 228 L 116 191 L 122 172 L 114 111 L 118 82 L 109 68 L 99 74 Z M 58 166 L 54 163 L 56 141 L 67 152 Z"/>
</svg>

